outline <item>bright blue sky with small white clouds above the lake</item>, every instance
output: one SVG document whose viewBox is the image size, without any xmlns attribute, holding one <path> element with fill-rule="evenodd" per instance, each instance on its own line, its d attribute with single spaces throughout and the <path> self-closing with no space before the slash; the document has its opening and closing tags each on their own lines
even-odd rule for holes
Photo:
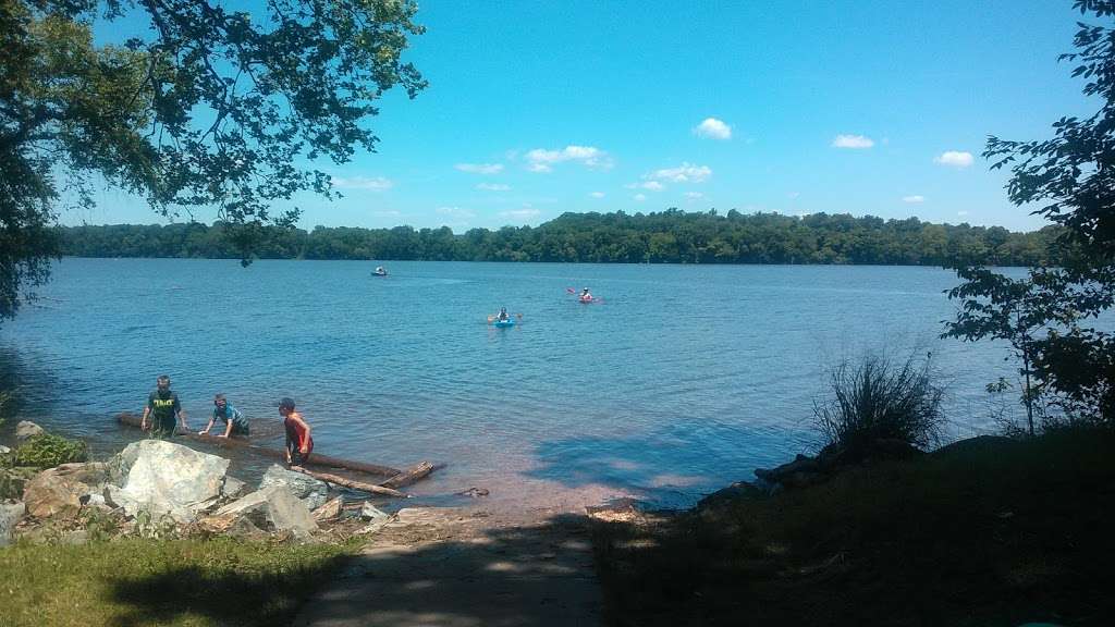
<svg viewBox="0 0 1115 627">
<path fill-rule="evenodd" d="M 1056 60 L 1078 19 L 1069 0 L 426 1 L 407 58 L 429 88 L 381 100 L 378 153 L 319 165 L 343 199 L 291 204 L 303 228 L 678 206 L 1036 229 L 979 155 L 1096 108 Z M 158 221 L 98 200 L 62 222 Z"/>
</svg>

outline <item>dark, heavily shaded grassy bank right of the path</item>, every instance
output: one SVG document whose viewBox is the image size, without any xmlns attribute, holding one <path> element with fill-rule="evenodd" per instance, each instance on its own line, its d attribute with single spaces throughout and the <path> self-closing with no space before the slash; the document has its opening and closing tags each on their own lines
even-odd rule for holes
<svg viewBox="0 0 1115 627">
<path fill-rule="evenodd" d="M 1115 624 L 1115 437 L 977 438 L 594 543 L 613 625 Z"/>
</svg>

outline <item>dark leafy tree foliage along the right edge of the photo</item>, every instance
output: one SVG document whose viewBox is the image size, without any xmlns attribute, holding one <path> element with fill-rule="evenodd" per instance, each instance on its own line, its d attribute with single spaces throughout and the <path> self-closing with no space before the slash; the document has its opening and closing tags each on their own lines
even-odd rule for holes
<svg viewBox="0 0 1115 627">
<path fill-rule="evenodd" d="M 1115 1 L 1078 0 L 1098 19 L 1115 16 Z M 969 264 L 966 282 L 950 292 L 961 311 L 947 335 L 967 340 L 1010 339 L 1035 377 L 1069 416 L 1115 424 L 1115 337 L 1094 320 L 1115 303 L 1115 30 L 1079 25 L 1077 51 L 1061 55 L 1084 94 L 1099 109 L 1088 118 L 1064 117 L 1054 137 L 1010 142 L 990 137 L 983 156 L 992 168 L 1010 166 L 1007 185 L 1017 205 L 1058 224 L 1057 267 L 1038 267 L 1011 281 Z M 1034 389 L 1024 387 L 1024 399 Z"/>
</svg>

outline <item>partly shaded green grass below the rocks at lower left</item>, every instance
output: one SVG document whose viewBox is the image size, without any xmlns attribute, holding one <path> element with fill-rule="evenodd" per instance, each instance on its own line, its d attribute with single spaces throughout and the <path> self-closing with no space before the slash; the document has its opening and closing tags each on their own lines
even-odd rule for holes
<svg viewBox="0 0 1115 627">
<path fill-rule="evenodd" d="M 18 543 L 0 549 L 0 627 L 289 625 L 348 552 L 225 538 Z"/>
</svg>

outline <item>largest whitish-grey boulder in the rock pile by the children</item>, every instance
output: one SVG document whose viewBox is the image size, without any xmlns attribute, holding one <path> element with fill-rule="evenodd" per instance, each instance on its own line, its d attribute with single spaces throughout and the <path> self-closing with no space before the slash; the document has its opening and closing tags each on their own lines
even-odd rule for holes
<svg viewBox="0 0 1115 627">
<path fill-rule="evenodd" d="M 144 440 L 120 453 L 115 472 L 122 486 L 109 485 L 105 495 L 130 517 L 146 511 L 155 519 L 193 522 L 221 498 L 227 470 L 229 460 L 223 457 Z"/>
</svg>

